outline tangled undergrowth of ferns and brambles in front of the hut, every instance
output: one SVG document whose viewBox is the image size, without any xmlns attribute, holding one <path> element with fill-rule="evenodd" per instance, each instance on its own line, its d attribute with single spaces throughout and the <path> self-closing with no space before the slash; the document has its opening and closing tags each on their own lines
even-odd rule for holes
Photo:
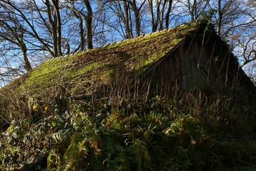
<svg viewBox="0 0 256 171">
<path fill-rule="evenodd" d="M 56 105 L 60 99 L 55 105 L 41 104 L 39 121 L 13 120 L 1 133 L 0 169 L 221 170 L 255 165 L 253 120 L 245 117 L 249 107 L 238 110 L 232 97 L 209 98 L 200 90 L 173 97 L 128 96 L 87 97 L 66 102 L 65 110 Z M 39 113 L 36 105 L 33 110 Z"/>
</svg>

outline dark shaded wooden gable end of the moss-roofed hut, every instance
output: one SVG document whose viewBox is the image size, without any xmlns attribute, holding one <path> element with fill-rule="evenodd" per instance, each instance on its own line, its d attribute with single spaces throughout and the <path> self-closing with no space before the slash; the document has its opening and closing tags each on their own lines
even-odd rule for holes
<svg viewBox="0 0 256 171">
<path fill-rule="evenodd" d="M 177 33 L 175 28 L 172 32 Z M 182 41 L 148 68 L 144 78 L 162 88 L 206 90 L 211 87 L 255 95 L 255 85 L 211 24 L 199 24 L 184 34 Z"/>
</svg>

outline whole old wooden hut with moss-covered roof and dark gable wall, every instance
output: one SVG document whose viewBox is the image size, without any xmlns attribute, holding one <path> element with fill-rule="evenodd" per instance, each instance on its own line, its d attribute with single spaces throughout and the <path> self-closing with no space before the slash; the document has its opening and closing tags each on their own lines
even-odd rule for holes
<svg viewBox="0 0 256 171">
<path fill-rule="evenodd" d="M 10 115 L 15 103 L 28 108 L 25 101 L 31 97 L 84 98 L 99 88 L 120 93 L 122 88 L 134 88 L 135 82 L 167 92 L 178 86 L 229 90 L 252 101 L 256 96 L 255 85 L 215 29 L 192 22 L 46 61 L 0 90 L 0 105 L 6 107 L 1 113 Z"/>
</svg>

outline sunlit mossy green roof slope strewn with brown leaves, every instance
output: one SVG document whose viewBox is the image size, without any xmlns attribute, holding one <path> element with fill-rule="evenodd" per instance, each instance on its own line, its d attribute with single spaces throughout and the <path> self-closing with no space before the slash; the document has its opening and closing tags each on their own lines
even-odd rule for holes
<svg viewBox="0 0 256 171">
<path fill-rule="evenodd" d="M 92 84 L 109 84 L 120 69 L 130 76 L 137 76 L 167 56 L 197 28 L 195 23 L 182 24 L 100 48 L 52 58 L 7 87 L 33 94 L 61 84 L 74 93 Z"/>
</svg>

